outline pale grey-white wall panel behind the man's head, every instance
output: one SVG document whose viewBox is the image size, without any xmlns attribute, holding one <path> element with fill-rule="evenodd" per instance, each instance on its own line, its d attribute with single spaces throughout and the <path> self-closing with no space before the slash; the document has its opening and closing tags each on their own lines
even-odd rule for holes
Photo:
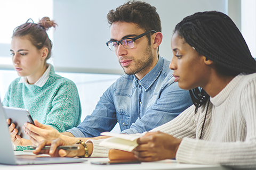
<svg viewBox="0 0 256 170">
<path fill-rule="evenodd" d="M 172 58 L 170 40 L 175 25 L 199 11 L 227 13 L 228 0 L 148 0 L 162 20 L 163 43 L 160 55 Z M 53 62 L 57 71 L 123 74 L 114 52 L 106 46 L 110 39 L 107 13 L 126 1 L 54 0 L 53 18 L 59 27 L 54 33 Z M 70 62 L 71 61 L 71 62 Z"/>
</svg>

